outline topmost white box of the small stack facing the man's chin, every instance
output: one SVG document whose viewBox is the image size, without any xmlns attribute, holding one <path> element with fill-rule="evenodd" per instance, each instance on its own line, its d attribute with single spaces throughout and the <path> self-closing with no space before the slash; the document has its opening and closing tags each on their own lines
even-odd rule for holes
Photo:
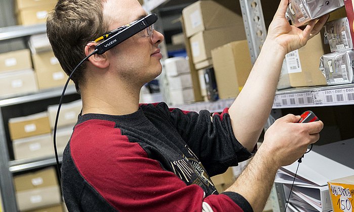
<svg viewBox="0 0 354 212">
<path fill-rule="evenodd" d="M 167 76 L 178 76 L 190 72 L 188 60 L 184 57 L 168 58 L 165 60 Z"/>
</svg>

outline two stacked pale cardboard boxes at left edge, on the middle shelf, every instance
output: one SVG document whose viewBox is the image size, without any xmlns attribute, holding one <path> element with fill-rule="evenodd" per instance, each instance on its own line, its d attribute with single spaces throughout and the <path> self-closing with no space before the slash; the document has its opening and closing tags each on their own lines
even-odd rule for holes
<svg viewBox="0 0 354 212">
<path fill-rule="evenodd" d="M 38 90 L 29 49 L 0 54 L 0 84 L 1 97 Z"/>
</svg>

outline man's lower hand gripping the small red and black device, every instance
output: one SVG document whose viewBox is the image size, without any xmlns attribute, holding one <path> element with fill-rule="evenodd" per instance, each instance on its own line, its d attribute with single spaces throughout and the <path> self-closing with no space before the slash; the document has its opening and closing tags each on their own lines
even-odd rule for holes
<svg viewBox="0 0 354 212">
<path fill-rule="evenodd" d="M 309 144 L 319 140 L 323 122 L 297 123 L 300 116 L 286 115 L 278 119 L 265 133 L 259 150 L 272 155 L 274 164 L 287 166 L 298 160 Z"/>
</svg>

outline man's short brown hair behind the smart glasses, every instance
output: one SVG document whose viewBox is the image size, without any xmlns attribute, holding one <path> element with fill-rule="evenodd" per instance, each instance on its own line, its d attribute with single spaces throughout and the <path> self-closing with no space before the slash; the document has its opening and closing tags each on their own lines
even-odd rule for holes
<svg viewBox="0 0 354 212">
<path fill-rule="evenodd" d="M 87 42 L 103 35 L 108 23 L 103 17 L 104 0 L 59 0 L 47 18 L 47 34 L 54 55 L 61 67 L 70 75 L 77 64 L 85 58 L 84 47 Z M 84 83 L 83 63 L 73 74 L 76 90 Z"/>
</svg>

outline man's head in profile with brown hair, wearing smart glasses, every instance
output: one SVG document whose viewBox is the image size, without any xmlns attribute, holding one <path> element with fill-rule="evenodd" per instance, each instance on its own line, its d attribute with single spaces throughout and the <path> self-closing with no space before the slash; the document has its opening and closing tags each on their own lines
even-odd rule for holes
<svg viewBox="0 0 354 212">
<path fill-rule="evenodd" d="M 70 74 L 98 44 L 93 42 L 96 38 L 144 16 L 146 12 L 137 0 L 59 0 L 48 17 L 47 33 L 55 56 L 64 71 Z M 161 57 L 153 53 L 159 51 L 157 45 L 163 36 L 156 31 L 151 37 L 140 34 L 118 44 L 102 56 L 91 57 L 91 64 L 83 63 L 72 77 L 76 89 L 85 84 L 87 66 L 115 70 L 123 80 L 132 80 L 131 77 L 135 76 L 141 83 L 158 76 L 161 72 Z"/>
</svg>

